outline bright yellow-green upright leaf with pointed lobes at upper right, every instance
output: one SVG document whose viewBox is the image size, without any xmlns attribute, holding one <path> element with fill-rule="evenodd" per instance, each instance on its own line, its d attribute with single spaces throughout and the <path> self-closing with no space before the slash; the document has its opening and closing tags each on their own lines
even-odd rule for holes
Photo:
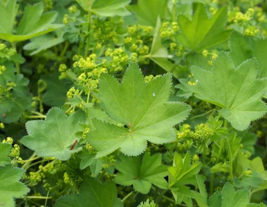
<svg viewBox="0 0 267 207">
<path fill-rule="evenodd" d="M 181 33 L 177 39 L 187 48 L 194 51 L 201 51 L 205 48 L 216 46 L 227 41 L 230 37 L 230 30 L 224 30 L 227 22 L 227 9 L 219 9 L 212 18 L 208 18 L 205 6 L 199 3 L 194 11 L 192 21 L 183 15 L 178 16 L 178 25 Z"/>
</svg>

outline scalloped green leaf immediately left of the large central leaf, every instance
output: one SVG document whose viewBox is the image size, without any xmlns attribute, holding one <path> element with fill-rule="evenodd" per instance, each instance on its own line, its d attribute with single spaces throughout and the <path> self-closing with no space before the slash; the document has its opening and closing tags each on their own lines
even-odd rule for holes
<svg viewBox="0 0 267 207">
<path fill-rule="evenodd" d="M 85 121 L 84 112 L 75 112 L 67 117 L 59 108 L 48 111 L 45 121 L 28 121 L 26 129 L 28 136 L 23 137 L 22 143 L 35 150 L 40 157 L 55 157 L 60 160 L 70 159 L 70 150 L 78 138 L 75 133 L 82 130 L 79 123 Z"/>
</svg>

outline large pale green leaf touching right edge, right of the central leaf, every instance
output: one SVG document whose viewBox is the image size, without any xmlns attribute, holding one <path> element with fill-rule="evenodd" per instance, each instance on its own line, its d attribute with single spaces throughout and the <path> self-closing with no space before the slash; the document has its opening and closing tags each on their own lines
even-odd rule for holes
<svg viewBox="0 0 267 207">
<path fill-rule="evenodd" d="M 246 130 L 251 121 L 262 117 L 266 104 L 261 101 L 266 92 L 267 79 L 257 79 L 257 61 L 249 59 L 237 68 L 225 52 L 219 53 L 211 71 L 197 66 L 191 68 L 195 96 L 220 106 L 219 112 L 237 130 Z"/>
</svg>

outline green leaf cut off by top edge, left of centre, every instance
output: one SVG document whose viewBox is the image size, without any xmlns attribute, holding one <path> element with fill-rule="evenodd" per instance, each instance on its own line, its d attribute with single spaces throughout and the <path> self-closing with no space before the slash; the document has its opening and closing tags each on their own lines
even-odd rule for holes
<svg viewBox="0 0 267 207">
<path fill-rule="evenodd" d="M 125 6 L 129 5 L 131 0 L 98 0 L 92 1 L 89 5 L 88 0 L 76 0 L 77 3 L 82 6 L 86 11 L 91 10 L 94 14 L 98 14 L 102 17 L 113 17 L 113 16 L 127 16 L 131 14 Z"/>
</svg>

